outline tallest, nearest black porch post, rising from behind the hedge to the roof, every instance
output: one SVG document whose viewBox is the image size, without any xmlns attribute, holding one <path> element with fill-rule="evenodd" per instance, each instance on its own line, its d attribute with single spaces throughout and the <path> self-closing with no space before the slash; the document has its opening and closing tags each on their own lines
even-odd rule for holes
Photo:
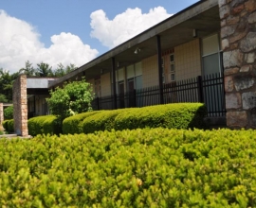
<svg viewBox="0 0 256 208">
<path fill-rule="evenodd" d="M 163 70 L 162 70 L 162 52 L 161 52 L 161 38 L 159 35 L 156 36 L 157 43 L 157 66 L 158 66 L 158 80 L 160 90 L 160 104 L 163 104 Z"/>
</svg>

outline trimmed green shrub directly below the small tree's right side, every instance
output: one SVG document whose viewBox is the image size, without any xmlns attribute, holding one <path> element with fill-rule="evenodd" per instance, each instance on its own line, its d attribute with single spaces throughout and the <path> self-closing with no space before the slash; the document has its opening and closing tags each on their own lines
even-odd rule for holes
<svg viewBox="0 0 256 208">
<path fill-rule="evenodd" d="M 100 113 L 100 111 L 80 113 L 80 114 L 76 114 L 76 115 L 65 118 L 63 122 L 63 133 L 64 134 L 82 133 L 82 121 L 84 120 L 84 118 L 89 117 L 96 113 Z"/>
</svg>

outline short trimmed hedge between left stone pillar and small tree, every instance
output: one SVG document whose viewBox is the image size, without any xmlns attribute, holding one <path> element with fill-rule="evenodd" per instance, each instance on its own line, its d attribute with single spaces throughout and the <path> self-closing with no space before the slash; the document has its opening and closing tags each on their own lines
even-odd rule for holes
<svg viewBox="0 0 256 208">
<path fill-rule="evenodd" d="M 42 115 L 32 117 L 27 121 L 28 134 L 35 136 L 38 134 L 58 134 L 58 123 L 55 115 Z M 60 128 L 59 128 L 60 129 Z"/>
</svg>

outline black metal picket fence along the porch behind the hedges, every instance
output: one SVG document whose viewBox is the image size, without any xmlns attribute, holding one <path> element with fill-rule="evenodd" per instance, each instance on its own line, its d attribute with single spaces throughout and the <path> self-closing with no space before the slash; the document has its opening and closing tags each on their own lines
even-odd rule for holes
<svg viewBox="0 0 256 208">
<path fill-rule="evenodd" d="M 202 102 L 208 108 L 208 116 L 225 116 L 224 78 L 220 74 L 205 77 L 198 76 L 159 86 L 135 90 L 117 95 L 117 108 L 143 107 L 160 104 L 162 92 L 163 104 L 180 102 Z M 93 100 L 94 110 L 111 110 L 115 106 L 114 96 L 97 97 Z"/>
</svg>

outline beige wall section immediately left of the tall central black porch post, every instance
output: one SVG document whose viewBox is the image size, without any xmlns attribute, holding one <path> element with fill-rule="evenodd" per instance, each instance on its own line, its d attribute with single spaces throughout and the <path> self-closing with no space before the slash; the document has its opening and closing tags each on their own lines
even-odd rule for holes
<svg viewBox="0 0 256 208">
<path fill-rule="evenodd" d="M 143 88 L 158 85 L 157 56 L 142 60 Z"/>
</svg>

